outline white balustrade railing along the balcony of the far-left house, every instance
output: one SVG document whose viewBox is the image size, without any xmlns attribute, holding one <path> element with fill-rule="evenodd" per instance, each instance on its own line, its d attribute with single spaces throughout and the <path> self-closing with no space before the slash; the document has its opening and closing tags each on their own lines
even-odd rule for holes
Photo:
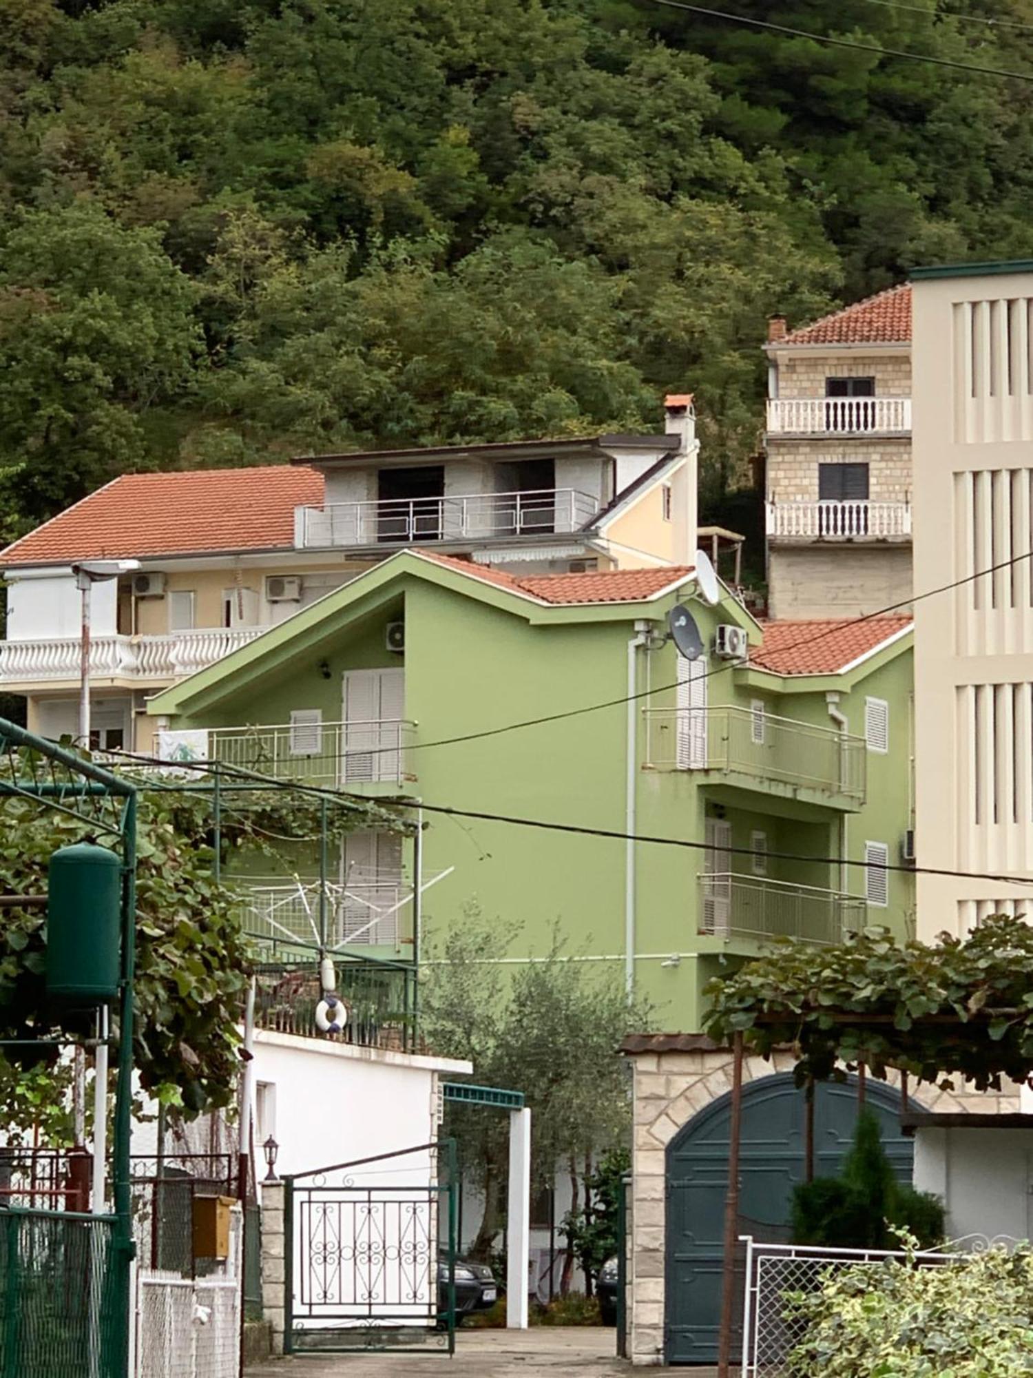
<svg viewBox="0 0 1033 1378">
<path fill-rule="evenodd" d="M 260 637 L 267 627 L 198 627 L 165 637 L 94 637 L 90 672 L 99 678 L 179 679 L 222 660 Z M 80 641 L 0 642 L 0 681 L 79 679 Z"/>
</svg>

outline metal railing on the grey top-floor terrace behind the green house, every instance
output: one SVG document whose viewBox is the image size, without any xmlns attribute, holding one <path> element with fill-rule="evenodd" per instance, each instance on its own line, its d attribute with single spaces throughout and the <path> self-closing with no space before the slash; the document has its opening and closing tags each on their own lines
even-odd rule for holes
<svg viewBox="0 0 1033 1378">
<path fill-rule="evenodd" d="M 578 531 L 598 510 L 599 503 L 576 488 L 331 503 L 300 508 L 300 543 L 303 548 L 325 548 L 544 536 Z"/>
</svg>

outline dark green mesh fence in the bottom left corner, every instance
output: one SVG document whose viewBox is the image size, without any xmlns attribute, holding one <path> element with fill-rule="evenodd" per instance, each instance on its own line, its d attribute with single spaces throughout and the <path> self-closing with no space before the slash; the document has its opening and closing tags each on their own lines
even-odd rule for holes
<svg viewBox="0 0 1033 1378">
<path fill-rule="evenodd" d="M 121 1378 L 112 1220 L 0 1210 L 0 1378 Z"/>
</svg>

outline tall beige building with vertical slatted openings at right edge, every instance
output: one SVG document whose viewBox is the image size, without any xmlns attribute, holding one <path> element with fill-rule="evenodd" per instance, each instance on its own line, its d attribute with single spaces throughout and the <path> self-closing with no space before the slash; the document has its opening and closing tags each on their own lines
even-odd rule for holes
<svg viewBox="0 0 1033 1378">
<path fill-rule="evenodd" d="M 915 605 L 916 853 L 1001 878 L 920 874 L 931 938 L 1033 912 L 1033 262 L 916 270 L 913 310 L 915 583 L 966 580 Z"/>
</svg>

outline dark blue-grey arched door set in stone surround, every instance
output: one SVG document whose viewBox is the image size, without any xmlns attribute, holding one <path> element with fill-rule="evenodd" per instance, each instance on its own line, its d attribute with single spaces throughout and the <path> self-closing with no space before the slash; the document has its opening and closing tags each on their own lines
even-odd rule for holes
<svg viewBox="0 0 1033 1378">
<path fill-rule="evenodd" d="M 866 1102 L 902 1181 L 910 1181 L 912 1141 L 899 1130 L 899 1097 L 868 1082 Z M 818 1084 L 814 1171 L 835 1177 L 857 1120 L 857 1083 Z M 727 1191 L 731 1097 L 700 1111 L 667 1148 L 667 1315 L 669 1364 L 718 1357 L 722 1235 Z M 775 1229 L 789 1224 L 792 1188 L 803 1181 L 804 1097 L 792 1076 L 766 1076 L 742 1090 L 740 1215 Z M 769 1239 L 784 1237 L 767 1235 Z"/>
</svg>

